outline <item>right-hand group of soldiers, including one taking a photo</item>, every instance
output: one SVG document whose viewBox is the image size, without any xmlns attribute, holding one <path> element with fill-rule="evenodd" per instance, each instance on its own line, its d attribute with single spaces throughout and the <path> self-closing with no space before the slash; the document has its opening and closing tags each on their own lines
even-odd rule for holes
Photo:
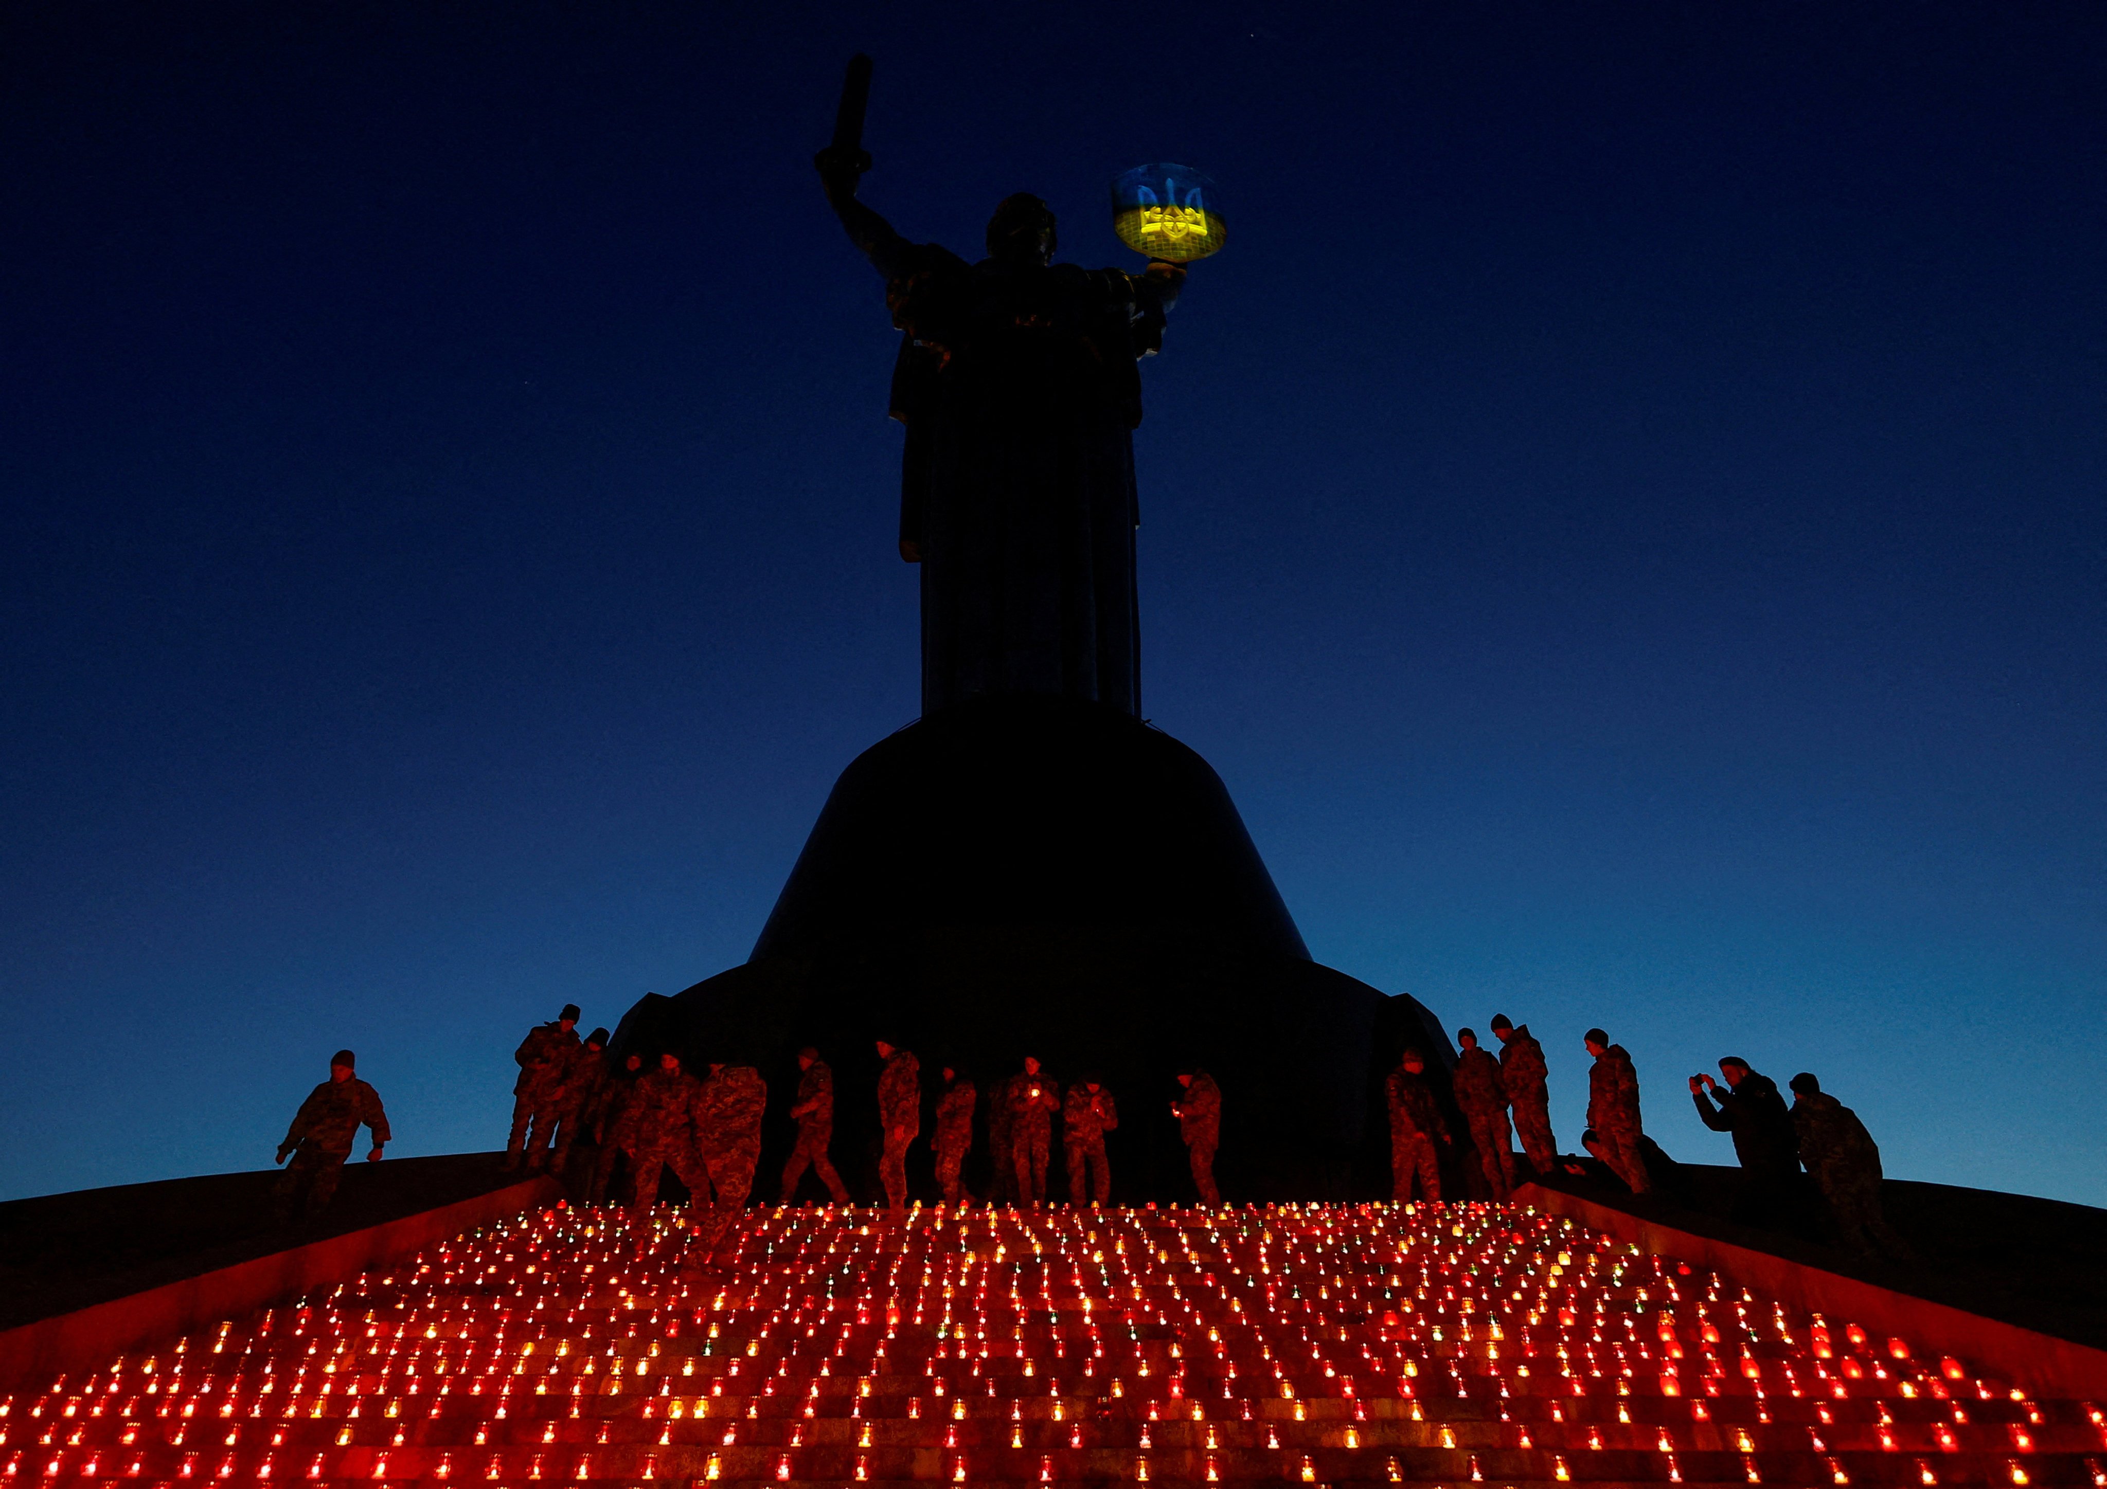
<svg viewBox="0 0 2107 1489">
<path fill-rule="evenodd" d="M 1426 1076 L 1424 1051 L 1405 1049 L 1391 1072 L 1384 1095 L 1393 1198 L 1441 1198 L 1441 1158 L 1452 1154 L 1462 1160 L 1471 1188 L 1481 1179 L 1492 1198 L 1509 1198 L 1515 1190 L 1511 1133 L 1519 1133 L 1536 1177 L 1547 1177 L 1557 1167 L 1584 1171 L 1582 1165 L 1561 1163 L 1551 1135 L 1544 1047 L 1528 1024 L 1515 1026 L 1504 1013 L 1494 1015 L 1490 1028 L 1502 1045 L 1498 1057 L 1479 1047 L 1475 1030 L 1456 1032 L 1450 1091 L 1469 1139 L 1462 1152 L 1456 1152 L 1458 1135 L 1450 1131 L 1435 1083 Z M 1650 1194 L 1673 1173 L 1675 1163 L 1646 1135 L 1631 1053 L 1612 1045 L 1610 1034 L 1599 1028 L 1589 1030 L 1582 1045 L 1593 1066 L 1580 1146 L 1633 1194 Z M 1886 1251 L 1898 1259 L 1911 1255 L 1909 1243 L 1882 1213 L 1879 1148 L 1856 1112 L 1823 1091 L 1810 1072 L 1791 1078 L 1791 1108 L 1776 1083 L 1738 1055 L 1719 1061 L 1719 1076 L 1721 1080 L 1690 1076 L 1690 1095 L 1707 1127 L 1734 1137 L 1745 1175 L 1736 1219 L 1757 1226 L 1789 1219 L 1797 1209 L 1806 1169 L 1846 1247 L 1860 1253 Z"/>
</svg>

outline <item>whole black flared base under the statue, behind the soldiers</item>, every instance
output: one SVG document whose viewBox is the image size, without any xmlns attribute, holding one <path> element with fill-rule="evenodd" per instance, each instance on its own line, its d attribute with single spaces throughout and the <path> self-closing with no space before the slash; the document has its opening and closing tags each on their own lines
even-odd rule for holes
<svg viewBox="0 0 2107 1489">
<path fill-rule="evenodd" d="M 645 998 L 617 1051 L 752 1064 L 769 1083 L 756 1188 L 788 1156 L 796 1051 L 834 1066 L 834 1165 L 879 1194 L 874 1040 L 923 1066 L 914 1194 L 940 1068 L 982 1091 L 967 1186 L 986 1192 L 986 1093 L 1037 1055 L 1119 1101 L 1112 1198 L 1190 1200 L 1176 1074 L 1222 1085 L 1228 1198 L 1353 1198 L 1384 1186 L 1380 1083 L 1403 1043 L 1448 1040 L 1403 996 L 1308 960 L 1207 762 L 1115 710 L 986 699 L 866 750 L 834 786 L 754 958 Z M 1374 1118 L 1374 1120 L 1372 1120 Z M 1066 1196 L 1056 1125 L 1047 1192 Z M 807 1184 L 813 1182 L 807 1177 Z M 813 1186 L 811 1194 L 818 1194 Z"/>
</svg>

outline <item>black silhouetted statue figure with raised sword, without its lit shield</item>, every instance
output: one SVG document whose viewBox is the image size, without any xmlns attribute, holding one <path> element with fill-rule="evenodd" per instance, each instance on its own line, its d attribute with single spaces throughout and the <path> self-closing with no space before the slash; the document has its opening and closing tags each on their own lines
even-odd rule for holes
<svg viewBox="0 0 2107 1489">
<path fill-rule="evenodd" d="M 858 57 L 813 164 L 902 333 L 891 417 L 906 425 L 900 556 L 921 564 L 923 714 L 1039 693 L 1140 716 L 1136 362 L 1163 345 L 1184 270 L 1054 263 L 1054 213 L 1024 192 L 997 204 L 978 263 L 908 242 L 855 196 L 868 82 Z"/>
</svg>

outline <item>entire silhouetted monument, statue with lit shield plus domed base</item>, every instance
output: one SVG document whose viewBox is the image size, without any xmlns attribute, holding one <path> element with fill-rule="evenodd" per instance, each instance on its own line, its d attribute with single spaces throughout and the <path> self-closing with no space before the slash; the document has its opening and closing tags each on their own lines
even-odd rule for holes
<svg viewBox="0 0 2107 1489">
<path fill-rule="evenodd" d="M 1222 777 L 1138 714 L 1136 360 L 1163 337 L 1178 263 L 1222 246 L 1222 202 L 1188 166 L 1121 175 L 1115 232 L 1150 259 L 1123 274 L 1054 263 L 1054 213 L 1011 196 L 988 257 L 965 263 L 855 200 L 866 84 L 858 59 L 815 164 L 904 337 L 923 718 L 834 781 L 752 956 L 647 996 L 615 1055 L 788 1066 L 805 1045 L 883 1038 L 982 1072 L 1032 1051 L 1115 1091 L 1205 1066 L 1245 1123 L 1224 1190 L 1386 1192 L 1382 1076 L 1448 1036 L 1412 998 L 1311 960 Z M 839 1070 L 879 1074 L 868 1055 Z M 877 1108 L 836 1116 L 877 1152 Z M 1123 1160 L 1134 1198 L 1186 1182 L 1184 1154 L 1159 1150 Z"/>
</svg>

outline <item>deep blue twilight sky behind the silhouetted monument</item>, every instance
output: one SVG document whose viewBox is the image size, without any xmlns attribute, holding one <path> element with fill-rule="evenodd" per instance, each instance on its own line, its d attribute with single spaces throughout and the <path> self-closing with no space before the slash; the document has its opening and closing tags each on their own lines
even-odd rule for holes
<svg viewBox="0 0 2107 1489">
<path fill-rule="evenodd" d="M 883 21 L 874 17 L 887 17 Z M 917 712 L 881 286 L 809 171 L 1134 265 L 1144 703 L 1313 952 L 1812 1068 L 2107 1203 L 2107 11 L 0 13 L 0 1194 L 396 1152 L 744 960 Z"/>
</svg>

